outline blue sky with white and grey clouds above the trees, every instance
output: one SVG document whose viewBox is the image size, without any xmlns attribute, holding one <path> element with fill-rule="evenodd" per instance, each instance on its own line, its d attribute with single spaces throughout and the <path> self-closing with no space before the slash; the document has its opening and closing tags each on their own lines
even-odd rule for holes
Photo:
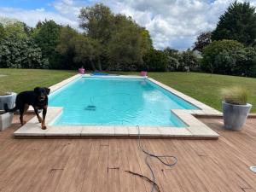
<svg viewBox="0 0 256 192">
<path fill-rule="evenodd" d="M 245 0 L 239 0 L 243 2 Z M 188 49 L 200 32 L 212 31 L 233 0 L 0 0 L 0 17 L 35 26 L 38 20 L 79 29 L 79 9 L 103 3 L 115 14 L 131 16 L 150 32 L 154 48 Z M 256 6 L 256 0 L 248 0 Z"/>
</svg>

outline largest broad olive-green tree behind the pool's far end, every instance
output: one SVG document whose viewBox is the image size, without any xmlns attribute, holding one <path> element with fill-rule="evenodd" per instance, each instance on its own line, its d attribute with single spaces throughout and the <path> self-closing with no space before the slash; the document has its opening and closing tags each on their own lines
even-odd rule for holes
<svg viewBox="0 0 256 192">
<path fill-rule="evenodd" d="M 100 44 L 101 55 L 97 68 L 137 70 L 143 55 L 152 49 L 149 32 L 125 15 L 114 15 L 103 4 L 80 11 L 80 26 L 87 38 Z"/>
</svg>

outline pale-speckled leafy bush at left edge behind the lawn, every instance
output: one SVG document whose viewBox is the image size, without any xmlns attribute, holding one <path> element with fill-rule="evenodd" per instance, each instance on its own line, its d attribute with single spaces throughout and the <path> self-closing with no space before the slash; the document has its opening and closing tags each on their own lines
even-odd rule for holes
<svg viewBox="0 0 256 192">
<path fill-rule="evenodd" d="M 0 67 L 47 68 L 41 49 L 31 38 L 4 38 L 0 43 Z"/>
</svg>

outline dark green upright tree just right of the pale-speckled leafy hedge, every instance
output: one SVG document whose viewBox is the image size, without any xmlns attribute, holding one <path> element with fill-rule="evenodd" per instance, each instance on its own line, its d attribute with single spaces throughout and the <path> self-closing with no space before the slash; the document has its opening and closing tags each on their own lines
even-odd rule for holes
<svg viewBox="0 0 256 192">
<path fill-rule="evenodd" d="M 59 55 L 56 52 L 57 44 L 60 43 L 61 26 L 54 20 L 45 20 L 38 32 L 33 34 L 36 44 L 42 49 L 43 57 L 49 60 L 49 67 L 58 65 Z"/>
</svg>

